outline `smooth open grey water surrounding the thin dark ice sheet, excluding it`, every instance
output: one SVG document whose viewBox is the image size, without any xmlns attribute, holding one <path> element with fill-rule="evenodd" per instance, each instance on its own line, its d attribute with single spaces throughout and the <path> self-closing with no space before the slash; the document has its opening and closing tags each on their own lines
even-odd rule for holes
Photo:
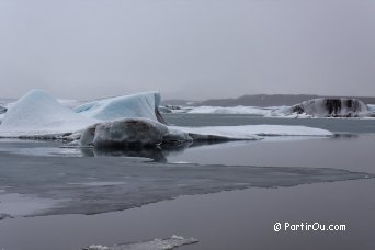
<svg viewBox="0 0 375 250">
<path fill-rule="evenodd" d="M 180 125 L 287 124 L 340 134 L 333 138 L 283 138 L 193 145 L 180 149 L 116 152 L 158 162 L 345 169 L 375 173 L 375 123 L 372 120 L 282 120 L 234 115 L 167 116 Z M 237 117 L 237 118 L 236 118 Z M 178 122 L 177 122 L 178 121 Z M 111 152 L 61 148 L 58 143 L 0 141 L 0 151 L 81 157 Z M 16 155 L 14 155 L 16 157 Z M 124 160 L 125 158 L 117 158 Z M 82 173 L 84 174 L 84 173 Z M 230 174 L 230 173 L 228 173 Z M 183 178 L 183 177 L 181 177 Z M 55 215 L 0 220 L 0 249 L 73 250 L 91 243 L 114 245 L 194 237 L 200 243 L 181 249 L 375 249 L 375 181 L 349 180 L 291 188 L 189 195 L 123 212 Z M 126 198 L 126 197 L 124 197 Z M 1 207 L 1 204 L 0 204 Z M 275 223 L 344 224 L 345 231 L 280 231 Z"/>
</svg>

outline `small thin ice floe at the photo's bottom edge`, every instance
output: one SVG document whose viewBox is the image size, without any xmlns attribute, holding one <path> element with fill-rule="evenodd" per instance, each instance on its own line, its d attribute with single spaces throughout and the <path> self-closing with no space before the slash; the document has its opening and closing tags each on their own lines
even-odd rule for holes
<svg viewBox="0 0 375 250">
<path fill-rule="evenodd" d="M 101 245 L 92 245 L 83 248 L 83 250 L 170 250 L 178 247 L 191 243 L 197 243 L 196 239 L 185 239 L 181 236 L 172 236 L 168 239 L 155 239 L 151 241 L 134 242 L 115 245 L 112 247 L 105 247 Z"/>
</svg>

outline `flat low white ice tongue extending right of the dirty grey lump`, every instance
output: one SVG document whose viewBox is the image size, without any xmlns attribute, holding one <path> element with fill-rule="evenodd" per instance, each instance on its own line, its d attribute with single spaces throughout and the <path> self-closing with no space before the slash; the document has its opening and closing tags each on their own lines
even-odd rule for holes
<svg viewBox="0 0 375 250">
<path fill-rule="evenodd" d="M 284 125 L 243 125 L 208 127 L 172 127 L 188 133 L 194 140 L 217 137 L 223 139 L 260 139 L 259 136 L 332 136 L 331 132 L 306 127 Z"/>
</svg>

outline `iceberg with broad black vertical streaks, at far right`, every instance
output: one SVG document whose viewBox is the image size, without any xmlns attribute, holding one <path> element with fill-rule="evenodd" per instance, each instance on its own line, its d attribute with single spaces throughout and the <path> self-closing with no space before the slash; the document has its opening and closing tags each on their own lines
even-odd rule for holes
<svg viewBox="0 0 375 250">
<path fill-rule="evenodd" d="M 311 99 L 287 109 L 281 113 L 305 114 L 312 117 L 362 117 L 368 115 L 367 106 L 357 99 Z"/>
</svg>

